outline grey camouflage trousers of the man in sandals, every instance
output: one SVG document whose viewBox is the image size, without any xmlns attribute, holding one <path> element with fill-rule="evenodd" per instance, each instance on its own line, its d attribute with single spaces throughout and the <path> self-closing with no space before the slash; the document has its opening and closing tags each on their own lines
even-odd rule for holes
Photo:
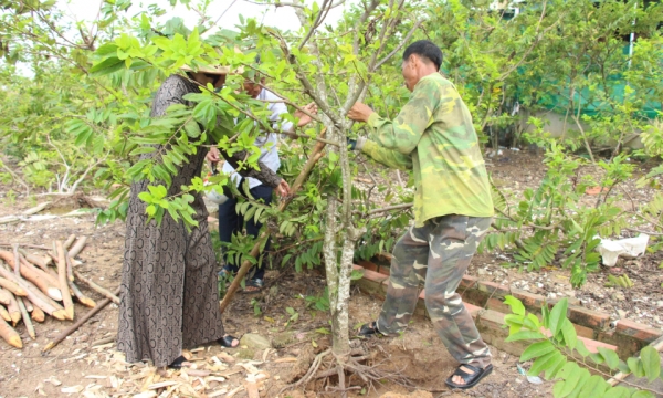
<svg viewBox="0 0 663 398">
<path fill-rule="evenodd" d="M 424 282 L 425 307 L 449 353 L 461 364 L 487 366 L 491 352 L 456 289 L 490 226 L 491 218 L 444 216 L 410 228 L 393 249 L 378 329 L 393 335 L 408 326 Z"/>
</svg>

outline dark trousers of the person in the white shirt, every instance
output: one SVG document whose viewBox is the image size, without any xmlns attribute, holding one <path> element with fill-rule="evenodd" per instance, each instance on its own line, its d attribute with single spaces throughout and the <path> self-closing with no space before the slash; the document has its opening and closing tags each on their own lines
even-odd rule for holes
<svg viewBox="0 0 663 398">
<path fill-rule="evenodd" d="M 272 202 L 272 191 L 273 188 L 261 185 L 250 190 L 251 196 L 255 198 L 255 200 L 263 200 L 265 205 L 270 205 Z M 244 227 L 244 217 L 238 214 L 235 210 L 235 205 L 238 200 L 235 198 L 229 198 L 223 205 L 219 205 L 219 238 L 221 242 L 231 242 L 231 238 L 233 233 L 242 233 L 242 227 Z M 260 229 L 262 223 L 255 222 L 253 218 L 245 222 L 246 233 L 253 238 L 257 238 L 260 233 Z M 265 244 L 265 252 L 270 250 L 270 239 L 267 238 L 267 243 Z M 257 268 L 254 266 L 255 273 L 253 274 L 253 279 L 264 279 L 265 275 L 265 266 L 266 266 L 266 258 L 263 256 L 263 261 L 259 264 Z M 224 269 L 229 272 L 235 273 L 240 269 L 241 264 L 234 264 L 234 259 L 230 255 L 225 256 L 225 266 Z M 251 272 L 251 271 L 250 271 Z"/>
</svg>

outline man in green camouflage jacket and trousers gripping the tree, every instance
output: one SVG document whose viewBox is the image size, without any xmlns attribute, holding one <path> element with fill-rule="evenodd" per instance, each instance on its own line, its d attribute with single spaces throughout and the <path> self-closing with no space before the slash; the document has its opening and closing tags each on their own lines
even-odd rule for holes
<svg viewBox="0 0 663 398">
<path fill-rule="evenodd" d="M 491 352 L 456 289 L 491 226 L 493 201 L 472 116 L 454 85 L 440 73 L 442 52 L 418 41 L 403 53 L 402 74 L 412 92 L 396 119 L 357 103 L 348 117 L 365 122 L 369 137 L 350 140 L 352 149 L 414 174 L 414 226 L 393 249 L 387 298 L 377 322 L 360 335 L 396 335 L 410 321 L 424 282 L 433 325 L 461 363 L 446 379 L 470 388 L 488 375 Z"/>
</svg>

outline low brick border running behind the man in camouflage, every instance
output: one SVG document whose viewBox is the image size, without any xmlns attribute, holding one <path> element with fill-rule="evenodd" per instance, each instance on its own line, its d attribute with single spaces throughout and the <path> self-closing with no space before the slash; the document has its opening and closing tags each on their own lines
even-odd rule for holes
<svg viewBox="0 0 663 398">
<path fill-rule="evenodd" d="M 359 265 L 355 265 L 355 269 L 364 270 L 364 277 L 357 281 L 357 284 L 364 292 L 383 298 L 389 279 L 389 266 L 385 263 L 390 262 L 391 255 L 379 254 L 376 258 L 376 262 L 360 261 Z M 505 344 L 503 342 L 508 334 L 505 333 L 506 329 L 502 328 L 504 314 L 509 313 L 508 306 L 503 303 L 504 297 L 513 295 L 520 300 L 529 312 L 535 314 L 540 314 L 540 307 L 544 303 L 552 307 L 558 302 L 558 300 L 547 300 L 538 294 L 509 289 L 494 282 L 481 281 L 469 275 L 463 276 L 459 293 L 461 293 L 463 302 L 477 320 L 477 326 L 482 334 L 486 334 L 486 341 L 507 353 L 522 353 L 524 347 L 523 345 L 518 346 L 517 344 Z M 419 314 L 425 314 L 423 295 L 424 292 L 422 291 L 420 303 L 417 306 L 417 313 Z M 585 341 L 588 349 L 590 349 L 590 346 L 596 349 L 603 345 L 615 349 L 621 358 L 634 355 L 663 335 L 661 329 L 628 320 L 618 321 L 615 327 L 611 328 L 610 315 L 579 305 L 569 304 L 567 316 L 573 324 L 578 336 Z"/>
</svg>

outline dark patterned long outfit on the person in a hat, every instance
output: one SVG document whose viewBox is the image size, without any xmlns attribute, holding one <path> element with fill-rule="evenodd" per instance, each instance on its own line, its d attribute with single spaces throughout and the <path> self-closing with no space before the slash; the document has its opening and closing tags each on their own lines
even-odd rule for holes
<svg viewBox="0 0 663 398">
<path fill-rule="evenodd" d="M 197 84 L 179 75 L 168 77 L 152 103 L 151 116 L 162 116 L 172 104 L 188 104 L 186 94 L 200 92 Z M 178 193 L 182 185 L 200 176 L 207 150 L 199 148 L 173 176 L 169 195 Z M 154 156 L 146 154 L 141 159 Z M 227 158 L 231 164 L 243 154 Z M 275 187 L 278 178 L 267 167 L 241 172 Z M 208 230 L 208 212 L 202 197 L 191 205 L 198 228 L 187 231 L 182 221 L 168 213 L 160 226 L 147 222 L 146 203 L 138 193 L 147 190 L 148 181 L 131 186 L 127 213 L 125 255 L 122 275 L 122 300 L 117 347 L 126 360 L 151 359 L 155 366 L 171 364 L 182 348 L 213 342 L 224 335 L 219 310 L 215 256 Z"/>
</svg>

